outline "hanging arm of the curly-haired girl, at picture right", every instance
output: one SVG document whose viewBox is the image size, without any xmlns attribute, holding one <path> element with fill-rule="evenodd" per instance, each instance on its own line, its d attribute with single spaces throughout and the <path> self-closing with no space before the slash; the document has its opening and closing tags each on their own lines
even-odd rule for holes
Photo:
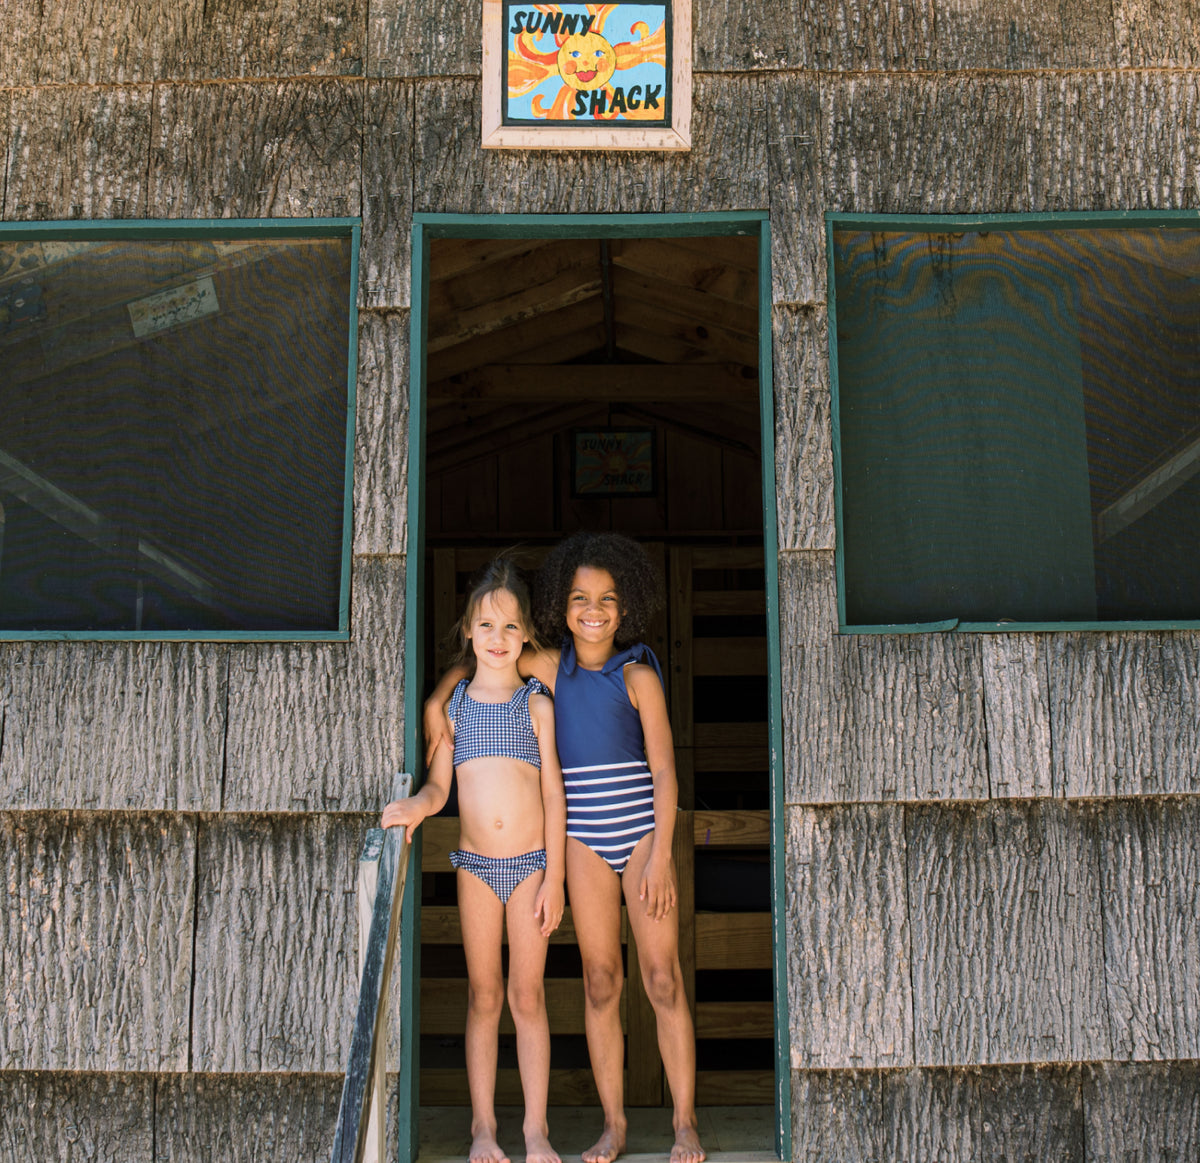
<svg viewBox="0 0 1200 1163">
<path fill-rule="evenodd" d="M 678 900 L 671 845 L 674 841 L 676 809 L 679 784 L 674 769 L 674 741 L 662 683 L 654 669 L 635 664 L 625 669 L 625 689 L 642 720 L 646 760 L 654 780 L 654 840 L 646 874 L 638 887 L 638 899 L 646 901 L 647 916 L 661 921 Z"/>
</svg>

